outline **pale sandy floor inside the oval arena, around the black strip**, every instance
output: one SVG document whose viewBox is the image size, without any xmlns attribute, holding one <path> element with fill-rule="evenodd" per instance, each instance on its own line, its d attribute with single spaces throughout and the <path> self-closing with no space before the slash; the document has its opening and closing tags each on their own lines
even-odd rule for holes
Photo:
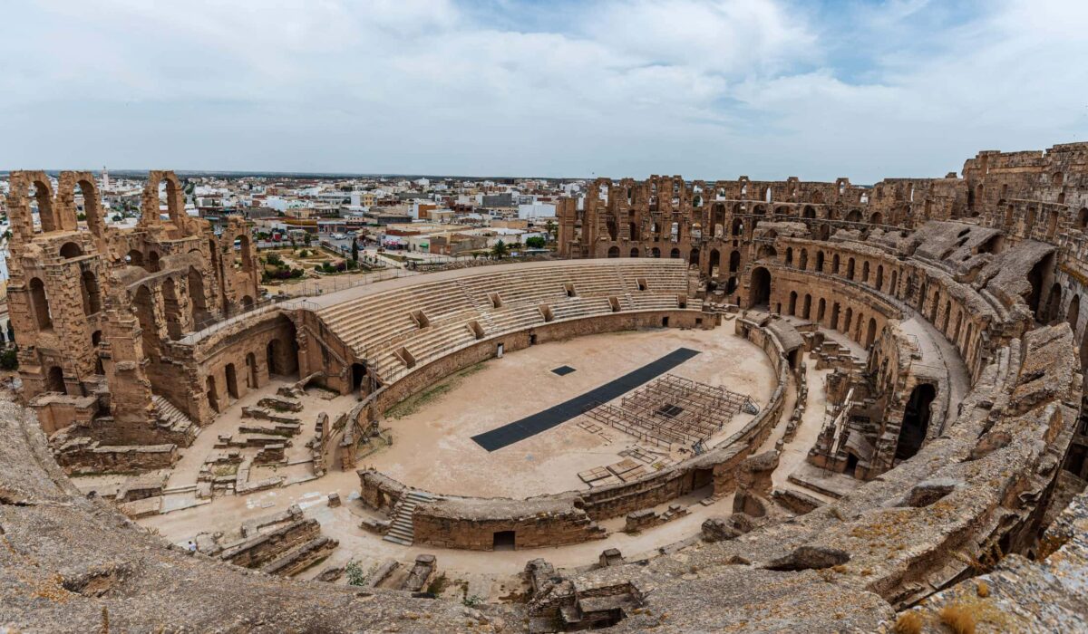
<svg viewBox="0 0 1088 634">
<path fill-rule="evenodd" d="M 360 467 L 447 495 L 521 498 L 585 489 L 578 472 L 622 460 L 619 452 L 634 447 L 636 438 L 611 427 L 590 433 L 577 424 L 583 418 L 492 452 L 471 437 L 589 391 L 680 347 L 701 353 L 671 374 L 766 403 L 774 387 L 770 363 L 755 345 L 727 328 L 594 335 L 492 359 L 455 378 L 453 389 L 417 411 L 387 419 L 383 425 L 393 430 L 393 447 L 367 457 Z M 566 376 L 552 372 L 560 365 L 576 371 Z M 751 418 L 735 415 L 712 444 Z"/>
</svg>

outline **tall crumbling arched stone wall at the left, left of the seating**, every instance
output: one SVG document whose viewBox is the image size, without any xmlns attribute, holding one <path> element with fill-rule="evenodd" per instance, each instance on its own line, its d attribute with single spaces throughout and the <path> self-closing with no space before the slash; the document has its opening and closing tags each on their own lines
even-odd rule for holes
<svg viewBox="0 0 1088 634">
<path fill-rule="evenodd" d="M 62 172 L 55 191 L 42 172 L 13 172 L 11 185 L 10 307 L 15 338 L 24 344 L 23 398 L 97 393 L 103 405 L 97 414 L 149 423 L 141 431 L 148 433 L 153 432 L 152 395 L 188 411 L 190 395 L 176 389 L 175 382 L 191 369 L 170 348 L 184 335 L 254 304 L 257 257 L 245 224 L 234 219 L 225 237 L 217 237 L 206 221 L 185 212 L 182 185 L 171 172 L 149 174 L 135 228 L 106 224 L 90 173 Z M 77 189 L 86 231 L 76 219 Z M 40 217 L 37 226 L 32 208 Z M 60 420 L 55 399 L 51 410 L 54 428 L 76 422 Z"/>
</svg>

